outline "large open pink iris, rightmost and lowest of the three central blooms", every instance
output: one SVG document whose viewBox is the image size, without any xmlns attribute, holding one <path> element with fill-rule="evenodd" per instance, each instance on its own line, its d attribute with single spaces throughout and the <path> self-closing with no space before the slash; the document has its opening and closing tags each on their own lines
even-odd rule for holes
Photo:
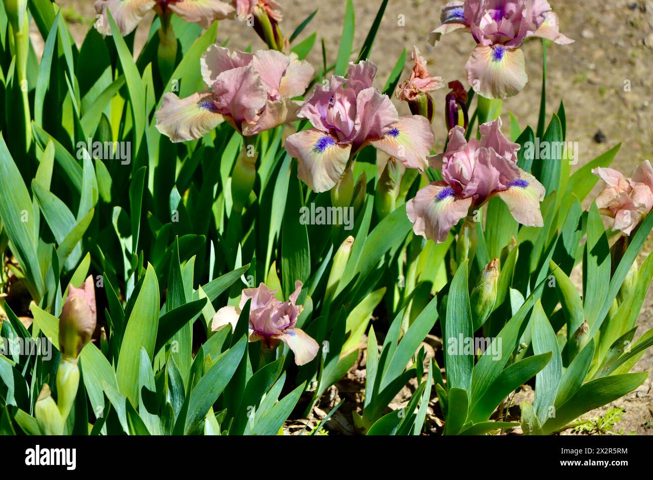
<svg viewBox="0 0 653 480">
<path fill-rule="evenodd" d="M 441 167 L 443 180 L 426 185 L 406 204 L 416 234 L 444 242 L 451 227 L 494 196 L 522 225 L 543 225 L 539 204 L 545 189 L 517 167 L 519 146 L 503 136 L 501 126 L 500 118 L 484 123 L 481 138 L 469 142 L 462 127 L 449 131 L 447 151 L 430 157 L 432 167 Z"/>
</svg>

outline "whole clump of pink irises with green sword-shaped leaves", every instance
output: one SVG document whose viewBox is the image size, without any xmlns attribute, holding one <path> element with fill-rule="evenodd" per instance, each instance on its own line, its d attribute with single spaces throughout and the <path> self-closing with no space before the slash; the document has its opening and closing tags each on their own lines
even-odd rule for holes
<svg viewBox="0 0 653 480">
<path fill-rule="evenodd" d="M 573 173 L 564 149 L 528 154 L 567 140 L 545 78 L 537 125 L 496 120 L 526 84 L 522 42 L 545 74 L 547 44 L 573 48 L 548 3 L 447 3 L 430 41 L 477 46 L 444 109 L 417 48 L 411 72 L 406 50 L 377 72 L 387 3 L 365 34 L 347 0 L 337 51 L 296 41 L 315 13 L 285 36 L 275 1 L 101 0 L 80 48 L 55 3 L 0 4 L 2 434 L 278 434 L 355 365 L 361 434 L 419 435 L 427 413 L 443 434 L 552 434 L 645 381 L 653 170 L 608 168 L 618 145 Z M 257 46 L 216 43 L 220 22 Z"/>
</svg>

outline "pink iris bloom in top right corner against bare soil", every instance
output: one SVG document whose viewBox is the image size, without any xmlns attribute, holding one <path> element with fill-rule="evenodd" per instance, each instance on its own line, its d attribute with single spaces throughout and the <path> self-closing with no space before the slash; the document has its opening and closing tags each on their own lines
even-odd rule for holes
<svg viewBox="0 0 653 480">
<path fill-rule="evenodd" d="M 520 50 L 524 40 L 573 42 L 558 31 L 558 16 L 546 0 L 451 1 L 442 10 L 441 22 L 431 32 L 430 43 L 454 30 L 470 31 L 477 46 L 466 64 L 468 80 L 476 93 L 489 99 L 517 95 L 528 82 Z"/>
</svg>

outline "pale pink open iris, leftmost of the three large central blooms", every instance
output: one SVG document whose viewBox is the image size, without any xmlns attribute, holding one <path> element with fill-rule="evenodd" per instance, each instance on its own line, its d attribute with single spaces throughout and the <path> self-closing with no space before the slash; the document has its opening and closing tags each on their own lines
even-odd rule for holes
<svg viewBox="0 0 653 480">
<path fill-rule="evenodd" d="M 163 95 L 156 112 L 157 129 L 172 142 L 197 140 L 223 121 L 242 135 L 296 120 L 302 95 L 313 78 L 313 67 L 296 54 L 274 50 L 255 54 L 212 45 L 200 60 L 209 90 L 180 99 Z"/>
</svg>

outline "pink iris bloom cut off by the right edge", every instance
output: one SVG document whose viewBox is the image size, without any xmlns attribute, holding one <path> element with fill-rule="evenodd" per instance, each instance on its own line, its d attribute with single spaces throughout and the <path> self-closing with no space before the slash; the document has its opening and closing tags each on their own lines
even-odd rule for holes
<svg viewBox="0 0 653 480">
<path fill-rule="evenodd" d="M 596 197 L 602 214 L 614 219 L 613 231 L 629 235 L 653 208 L 653 168 L 648 160 L 637 167 L 632 178 L 613 168 L 594 168 L 592 173 L 605 182 Z"/>
</svg>

